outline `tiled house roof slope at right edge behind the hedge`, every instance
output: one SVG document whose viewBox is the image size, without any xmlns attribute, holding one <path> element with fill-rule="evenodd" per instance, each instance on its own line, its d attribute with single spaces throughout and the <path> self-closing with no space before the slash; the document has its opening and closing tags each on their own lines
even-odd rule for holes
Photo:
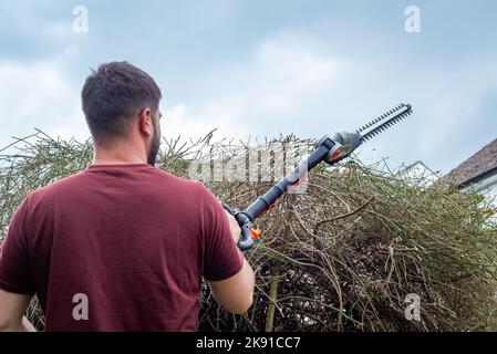
<svg viewBox="0 0 497 354">
<path fill-rule="evenodd" d="M 467 185 L 494 174 L 497 174 L 497 139 L 451 170 L 443 177 L 443 180 L 456 185 Z"/>
</svg>

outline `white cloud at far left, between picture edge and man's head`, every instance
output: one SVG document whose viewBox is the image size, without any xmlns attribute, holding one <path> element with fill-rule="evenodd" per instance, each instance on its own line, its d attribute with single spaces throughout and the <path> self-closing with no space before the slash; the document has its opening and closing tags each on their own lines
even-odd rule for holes
<svg viewBox="0 0 497 354">
<path fill-rule="evenodd" d="M 0 146 L 39 127 L 63 138 L 89 136 L 80 90 L 63 72 L 64 58 L 38 62 L 0 61 Z"/>
</svg>

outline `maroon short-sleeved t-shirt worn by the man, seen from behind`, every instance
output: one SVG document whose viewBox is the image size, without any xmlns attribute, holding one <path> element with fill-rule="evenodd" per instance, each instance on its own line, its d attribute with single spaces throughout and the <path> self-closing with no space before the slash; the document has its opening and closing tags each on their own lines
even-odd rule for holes
<svg viewBox="0 0 497 354">
<path fill-rule="evenodd" d="M 242 266 L 201 183 L 92 165 L 24 199 L 0 248 L 0 288 L 35 293 L 46 331 L 195 331 L 201 277 Z"/>
</svg>

